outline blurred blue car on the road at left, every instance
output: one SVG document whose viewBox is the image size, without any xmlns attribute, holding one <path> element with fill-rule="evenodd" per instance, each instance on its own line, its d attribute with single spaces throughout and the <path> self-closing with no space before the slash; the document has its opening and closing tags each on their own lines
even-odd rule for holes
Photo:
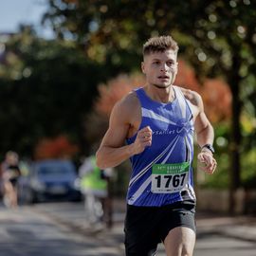
<svg viewBox="0 0 256 256">
<path fill-rule="evenodd" d="M 49 199 L 81 200 L 81 192 L 76 186 L 77 178 L 75 166 L 69 160 L 34 162 L 21 184 L 21 200 L 26 203 Z"/>
</svg>

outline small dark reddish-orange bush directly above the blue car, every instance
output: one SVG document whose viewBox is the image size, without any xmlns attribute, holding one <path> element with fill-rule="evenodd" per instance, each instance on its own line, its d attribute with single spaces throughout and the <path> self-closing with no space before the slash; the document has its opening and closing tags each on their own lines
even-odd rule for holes
<svg viewBox="0 0 256 256">
<path fill-rule="evenodd" d="M 78 146 L 70 143 L 67 137 L 43 138 L 35 148 L 35 159 L 70 158 L 78 152 Z"/>
</svg>

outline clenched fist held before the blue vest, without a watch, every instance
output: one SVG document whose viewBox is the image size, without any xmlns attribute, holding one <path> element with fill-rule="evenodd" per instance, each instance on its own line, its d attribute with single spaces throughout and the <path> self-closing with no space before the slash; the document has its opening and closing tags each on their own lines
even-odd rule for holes
<svg viewBox="0 0 256 256">
<path fill-rule="evenodd" d="M 146 126 L 137 132 L 137 137 L 134 142 L 135 155 L 143 152 L 146 147 L 151 146 L 152 143 L 152 130 Z"/>
</svg>

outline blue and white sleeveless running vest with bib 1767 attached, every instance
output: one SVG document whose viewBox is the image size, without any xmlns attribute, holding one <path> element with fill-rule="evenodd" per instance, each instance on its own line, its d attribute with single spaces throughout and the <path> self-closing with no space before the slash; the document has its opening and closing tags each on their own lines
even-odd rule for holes
<svg viewBox="0 0 256 256">
<path fill-rule="evenodd" d="M 150 99 L 143 87 L 135 90 L 141 105 L 139 130 L 150 126 L 152 145 L 133 155 L 127 192 L 128 205 L 160 207 L 177 201 L 195 201 L 192 182 L 193 120 L 190 102 L 177 86 L 175 99 Z M 127 138 L 127 144 L 135 141 Z"/>
</svg>

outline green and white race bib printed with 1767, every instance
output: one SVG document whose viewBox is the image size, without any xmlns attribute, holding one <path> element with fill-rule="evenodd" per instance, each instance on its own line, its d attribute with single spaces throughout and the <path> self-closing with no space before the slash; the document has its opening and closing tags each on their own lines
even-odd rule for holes
<svg viewBox="0 0 256 256">
<path fill-rule="evenodd" d="M 151 191 L 180 192 L 188 183 L 189 170 L 189 162 L 153 165 Z"/>
</svg>

